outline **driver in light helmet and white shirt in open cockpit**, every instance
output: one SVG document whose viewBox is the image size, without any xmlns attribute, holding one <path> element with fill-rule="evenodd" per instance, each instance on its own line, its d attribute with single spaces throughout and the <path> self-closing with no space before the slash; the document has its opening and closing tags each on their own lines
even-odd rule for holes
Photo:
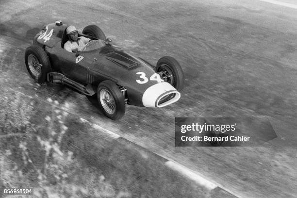
<svg viewBox="0 0 297 198">
<path fill-rule="evenodd" d="M 69 40 L 64 44 L 64 49 L 70 52 L 82 51 L 84 46 L 91 40 L 84 36 L 78 37 L 78 31 L 73 25 L 66 28 L 66 33 Z"/>
</svg>

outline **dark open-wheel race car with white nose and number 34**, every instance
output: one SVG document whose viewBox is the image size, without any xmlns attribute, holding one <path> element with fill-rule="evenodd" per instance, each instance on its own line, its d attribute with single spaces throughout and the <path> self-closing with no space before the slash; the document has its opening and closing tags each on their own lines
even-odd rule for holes
<svg viewBox="0 0 297 198">
<path fill-rule="evenodd" d="M 60 82 L 87 96 L 97 94 L 103 114 L 114 120 L 125 114 L 126 104 L 164 107 L 180 99 L 184 75 L 174 58 L 164 56 L 153 66 L 112 45 L 96 25 L 78 33 L 91 39 L 84 49 L 69 52 L 64 49 L 67 27 L 62 21 L 44 26 L 26 49 L 26 67 L 36 82 Z"/>
</svg>

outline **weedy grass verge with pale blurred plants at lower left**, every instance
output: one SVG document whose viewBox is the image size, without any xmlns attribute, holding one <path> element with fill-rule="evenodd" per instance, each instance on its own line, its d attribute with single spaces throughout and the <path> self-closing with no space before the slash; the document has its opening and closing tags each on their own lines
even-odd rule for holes
<svg viewBox="0 0 297 198">
<path fill-rule="evenodd" d="M 14 92 L 0 100 L 0 197 L 18 187 L 40 198 L 208 197 L 149 153 L 69 113 L 71 103 Z"/>
</svg>

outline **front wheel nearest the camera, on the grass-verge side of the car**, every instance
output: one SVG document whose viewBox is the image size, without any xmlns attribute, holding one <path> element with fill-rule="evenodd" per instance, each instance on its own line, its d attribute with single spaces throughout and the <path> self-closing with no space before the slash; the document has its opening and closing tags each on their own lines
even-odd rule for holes
<svg viewBox="0 0 297 198">
<path fill-rule="evenodd" d="M 115 82 L 108 80 L 100 82 L 97 99 L 103 114 L 110 119 L 117 120 L 125 114 L 125 99 Z"/>
</svg>

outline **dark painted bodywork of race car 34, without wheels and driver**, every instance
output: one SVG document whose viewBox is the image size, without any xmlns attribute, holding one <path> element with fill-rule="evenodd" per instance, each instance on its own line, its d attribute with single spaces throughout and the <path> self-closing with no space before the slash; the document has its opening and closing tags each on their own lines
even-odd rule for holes
<svg viewBox="0 0 297 198">
<path fill-rule="evenodd" d="M 114 45 L 77 53 L 66 51 L 61 45 L 66 27 L 64 24 L 49 24 L 34 38 L 34 42 L 44 45 L 53 72 L 59 72 L 84 86 L 91 84 L 97 87 L 100 82 L 111 80 L 127 89 L 129 104 L 135 106 L 144 106 L 143 94 L 149 87 L 165 83 L 147 62 Z M 84 34 L 79 33 L 79 35 Z M 162 89 L 162 86 L 155 87 Z M 170 84 L 165 87 L 166 89 L 170 87 L 171 90 L 161 90 L 156 93 L 168 91 L 177 93 Z"/>
</svg>

